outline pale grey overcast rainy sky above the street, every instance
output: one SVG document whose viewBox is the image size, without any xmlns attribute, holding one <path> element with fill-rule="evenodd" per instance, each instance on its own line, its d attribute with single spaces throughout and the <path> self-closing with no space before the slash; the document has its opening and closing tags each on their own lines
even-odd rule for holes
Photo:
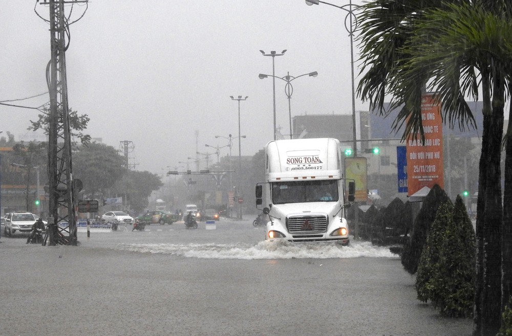
<svg viewBox="0 0 512 336">
<path fill-rule="evenodd" d="M 332 0 L 342 6 L 348 1 Z M 354 4 L 361 4 L 354 1 Z M 72 19 L 85 6 L 74 6 Z M 0 101 L 48 91 L 50 60 L 47 6 L 35 0 L 4 0 L 0 11 Z M 69 13 L 70 7 L 67 7 Z M 253 155 L 273 139 L 272 58 L 275 76 L 292 82 L 291 115 L 351 114 L 350 38 L 347 12 L 304 0 L 187 0 L 151 2 L 91 0 L 87 12 L 71 25 L 66 52 L 69 106 L 87 114 L 86 133 L 117 149 L 133 142 L 135 169 L 164 174 L 184 170 L 179 162 L 205 157 L 217 161 L 216 149 L 237 137 L 240 104 L 242 155 Z M 354 44 L 354 48 L 356 45 Z M 357 49 L 355 49 L 357 50 Z M 357 59 L 357 55 L 355 55 Z M 359 70 L 355 74 L 357 76 Z M 357 83 L 356 78 L 356 83 Z M 276 124 L 289 134 L 286 82 L 276 79 Z M 48 94 L 6 102 L 37 107 Z M 356 99 L 357 110 L 368 103 Z M 0 131 L 16 141 L 45 141 L 28 131 L 38 111 L 0 105 Z M 198 136 L 196 136 L 198 134 Z M 212 147 L 206 147 L 208 144 Z M 220 156 L 229 148 L 220 149 Z M 238 139 L 232 154 L 238 155 Z M 194 163 L 190 161 L 190 166 Z"/>
</svg>

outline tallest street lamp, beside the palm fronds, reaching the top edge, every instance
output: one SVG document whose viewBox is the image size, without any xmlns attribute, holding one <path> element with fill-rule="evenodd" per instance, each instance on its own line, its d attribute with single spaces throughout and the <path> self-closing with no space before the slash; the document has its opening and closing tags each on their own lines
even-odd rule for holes
<svg viewBox="0 0 512 336">
<path fill-rule="evenodd" d="M 350 36 L 350 69 L 352 73 L 352 135 L 353 135 L 353 148 L 352 152 L 354 153 L 354 156 L 357 156 L 357 133 L 355 129 L 355 87 L 354 87 L 354 31 L 355 27 L 357 26 L 357 18 L 354 14 L 354 9 L 357 9 L 359 6 L 353 5 L 352 0 L 349 0 L 349 3 L 347 5 L 343 6 L 336 6 L 333 4 L 329 4 L 323 1 L 319 0 L 306 0 L 306 4 L 308 6 L 312 5 L 318 5 L 318 4 L 326 4 L 329 6 L 333 6 L 339 9 L 343 9 L 347 12 L 347 16 L 345 16 L 345 29 L 349 33 Z"/>
</svg>

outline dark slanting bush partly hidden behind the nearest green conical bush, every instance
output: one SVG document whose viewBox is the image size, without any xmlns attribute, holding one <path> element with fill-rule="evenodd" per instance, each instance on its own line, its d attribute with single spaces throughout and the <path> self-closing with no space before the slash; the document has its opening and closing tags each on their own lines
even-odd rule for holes
<svg viewBox="0 0 512 336">
<path fill-rule="evenodd" d="M 410 274 L 415 274 L 418 270 L 419 258 L 430 227 L 434 222 L 437 209 L 446 201 L 450 201 L 450 198 L 437 184 L 432 187 L 429 194 L 423 200 L 423 205 L 414 220 L 411 237 L 403 247 L 401 258 L 403 268 Z"/>
</svg>

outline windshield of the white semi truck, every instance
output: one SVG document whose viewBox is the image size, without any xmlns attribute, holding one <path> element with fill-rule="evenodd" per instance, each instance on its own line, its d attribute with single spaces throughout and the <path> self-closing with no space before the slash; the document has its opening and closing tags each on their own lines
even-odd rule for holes
<svg viewBox="0 0 512 336">
<path fill-rule="evenodd" d="M 338 181 L 272 183 L 272 203 L 334 202 L 338 200 Z"/>
</svg>

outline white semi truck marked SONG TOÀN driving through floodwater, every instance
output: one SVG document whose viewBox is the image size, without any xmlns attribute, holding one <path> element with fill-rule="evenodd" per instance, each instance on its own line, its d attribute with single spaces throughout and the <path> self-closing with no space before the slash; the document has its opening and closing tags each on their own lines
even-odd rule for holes
<svg viewBox="0 0 512 336">
<path fill-rule="evenodd" d="M 338 241 L 349 244 L 339 141 L 293 139 L 265 147 L 265 182 L 256 186 L 256 207 L 268 215 L 267 240 Z M 354 200 L 354 182 L 348 182 Z"/>
</svg>

